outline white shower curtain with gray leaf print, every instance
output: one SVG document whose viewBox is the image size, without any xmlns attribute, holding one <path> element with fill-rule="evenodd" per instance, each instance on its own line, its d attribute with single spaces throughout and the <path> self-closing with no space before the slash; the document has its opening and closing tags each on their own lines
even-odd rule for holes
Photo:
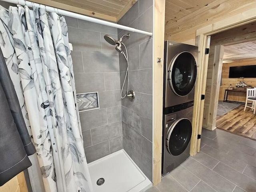
<svg viewBox="0 0 256 192">
<path fill-rule="evenodd" d="M 45 191 L 92 192 L 64 17 L 18 5 L 1 6 L 0 19 L 0 48 Z"/>
</svg>

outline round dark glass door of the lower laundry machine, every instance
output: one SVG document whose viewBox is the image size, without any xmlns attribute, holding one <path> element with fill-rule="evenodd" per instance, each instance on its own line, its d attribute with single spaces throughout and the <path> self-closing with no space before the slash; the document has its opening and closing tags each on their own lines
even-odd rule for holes
<svg viewBox="0 0 256 192">
<path fill-rule="evenodd" d="M 166 147 L 170 154 L 177 156 L 186 150 L 192 135 L 192 124 L 188 118 L 176 120 L 169 128 Z"/>
</svg>

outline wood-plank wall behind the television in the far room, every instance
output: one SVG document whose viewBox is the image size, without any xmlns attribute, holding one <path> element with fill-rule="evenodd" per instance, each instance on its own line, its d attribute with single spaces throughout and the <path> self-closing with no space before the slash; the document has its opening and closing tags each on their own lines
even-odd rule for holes
<svg viewBox="0 0 256 192">
<path fill-rule="evenodd" d="M 227 89 L 230 84 L 232 84 L 232 86 L 235 86 L 235 84 L 237 84 L 238 82 L 240 82 L 242 80 L 241 78 L 228 78 L 229 67 L 245 66 L 245 65 L 256 65 L 256 59 L 255 60 L 236 61 L 236 62 L 223 64 L 222 85 L 220 86 L 219 100 L 223 100 L 225 89 Z M 244 78 L 244 82 L 246 82 L 248 85 L 256 86 L 256 78 Z M 246 93 L 230 92 L 228 95 L 229 95 L 228 96 L 229 100 L 245 102 L 245 99 L 246 99 Z"/>
</svg>

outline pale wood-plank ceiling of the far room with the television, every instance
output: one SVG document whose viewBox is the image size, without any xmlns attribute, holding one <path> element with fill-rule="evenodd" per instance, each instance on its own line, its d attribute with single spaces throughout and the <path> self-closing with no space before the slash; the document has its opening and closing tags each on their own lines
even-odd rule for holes
<svg viewBox="0 0 256 192">
<path fill-rule="evenodd" d="M 225 46 L 224 62 L 256 59 L 256 41 Z"/>
</svg>

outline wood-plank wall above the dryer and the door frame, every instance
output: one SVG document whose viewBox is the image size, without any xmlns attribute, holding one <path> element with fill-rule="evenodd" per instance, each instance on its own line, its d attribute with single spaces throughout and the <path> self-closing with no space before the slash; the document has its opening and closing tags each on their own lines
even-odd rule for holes
<svg viewBox="0 0 256 192">
<path fill-rule="evenodd" d="M 175 23 L 166 24 L 165 40 L 194 43 L 196 30 L 254 8 L 255 0 L 216 0 Z"/>
</svg>

